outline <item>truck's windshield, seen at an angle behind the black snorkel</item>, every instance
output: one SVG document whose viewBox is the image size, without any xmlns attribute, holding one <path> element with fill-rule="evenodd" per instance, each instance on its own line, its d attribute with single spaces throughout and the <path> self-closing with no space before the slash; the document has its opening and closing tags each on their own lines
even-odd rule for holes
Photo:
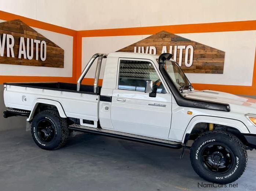
<svg viewBox="0 0 256 191">
<path fill-rule="evenodd" d="M 167 71 L 169 77 L 172 79 L 175 86 L 180 91 L 192 88 L 192 85 L 190 84 L 189 80 L 187 79 L 184 72 L 176 62 L 166 60 L 164 68 Z"/>
</svg>

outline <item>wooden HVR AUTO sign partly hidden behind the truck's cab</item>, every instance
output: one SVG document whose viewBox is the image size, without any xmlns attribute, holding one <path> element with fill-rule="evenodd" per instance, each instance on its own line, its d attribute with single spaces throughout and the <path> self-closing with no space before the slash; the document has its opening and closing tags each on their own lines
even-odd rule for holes
<svg viewBox="0 0 256 191">
<path fill-rule="evenodd" d="M 171 53 L 185 73 L 223 73 L 225 52 L 161 31 L 118 51 L 146 54 Z"/>
</svg>

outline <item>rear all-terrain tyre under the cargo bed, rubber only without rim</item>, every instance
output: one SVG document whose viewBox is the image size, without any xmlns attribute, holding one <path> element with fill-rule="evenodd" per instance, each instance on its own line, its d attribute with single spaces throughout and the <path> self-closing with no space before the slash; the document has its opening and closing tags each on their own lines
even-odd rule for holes
<svg viewBox="0 0 256 191">
<path fill-rule="evenodd" d="M 37 126 L 40 121 L 47 119 L 52 122 L 52 127 L 54 128 L 54 138 L 50 142 L 44 142 L 40 140 L 37 134 Z M 34 142 L 42 149 L 45 150 L 56 150 L 64 146 L 69 137 L 69 130 L 67 128 L 66 118 L 61 118 L 59 112 L 55 110 L 45 110 L 39 112 L 32 121 L 31 134 Z"/>
</svg>

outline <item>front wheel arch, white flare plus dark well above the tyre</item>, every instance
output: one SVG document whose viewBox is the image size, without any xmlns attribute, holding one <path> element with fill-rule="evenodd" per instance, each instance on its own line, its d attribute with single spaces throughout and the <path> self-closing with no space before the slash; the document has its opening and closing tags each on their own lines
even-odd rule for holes
<svg viewBox="0 0 256 191">
<path fill-rule="evenodd" d="M 183 134 L 182 142 L 186 143 L 189 140 L 191 132 L 193 132 L 196 128 L 198 128 L 198 124 L 205 123 L 205 124 L 214 124 L 215 126 L 225 127 L 227 130 L 232 131 L 235 135 L 239 134 L 247 134 L 250 133 L 246 125 L 239 120 L 224 118 L 224 117 L 217 117 L 217 116 L 204 116 L 198 115 L 194 116 L 189 124 L 186 127 L 186 130 Z"/>
</svg>

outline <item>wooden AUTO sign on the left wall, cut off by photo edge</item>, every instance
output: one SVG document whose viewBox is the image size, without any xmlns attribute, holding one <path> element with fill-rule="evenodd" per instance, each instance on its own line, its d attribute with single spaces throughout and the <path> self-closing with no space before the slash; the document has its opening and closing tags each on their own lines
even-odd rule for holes
<svg viewBox="0 0 256 191">
<path fill-rule="evenodd" d="M 0 64 L 64 68 L 64 50 L 21 20 L 0 23 Z"/>
</svg>

